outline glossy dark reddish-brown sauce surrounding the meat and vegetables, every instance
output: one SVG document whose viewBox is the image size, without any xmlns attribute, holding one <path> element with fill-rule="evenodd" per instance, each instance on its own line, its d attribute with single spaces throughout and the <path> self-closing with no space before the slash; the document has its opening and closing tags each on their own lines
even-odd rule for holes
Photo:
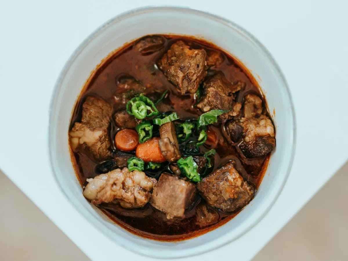
<svg viewBox="0 0 348 261">
<path fill-rule="evenodd" d="M 118 97 L 120 97 L 121 93 L 120 90 L 117 89 L 116 82 L 120 76 L 125 74 L 133 76 L 147 87 L 144 91 L 145 95 L 153 91 L 162 93 L 164 90 L 168 89 L 169 95 L 164 102 L 172 104 L 173 111 L 177 112 L 181 119 L 197 119 L 201 112 L 194 106 L 196 103 L 194 95 L 180 95 L 176 88 L 168 81 L 166 76 L 164 76 L 164 74 L 157 69 L 157 66 L 155 66 L 156 61 L 167 52 L 170 45 L 179 39 L 185 41 L 195 49 L 204 48 L 207 51 L 218 50 L 223 54 L 224 61 L 222 64 L 216 68 L 212 67 L 208 69 L 208 76 L 209 74 L 213 74 L 214 71 L 222 71 L 226 78 L 231 82 L 237 80 L 244 81 L 246 86 L 237 94 L 237 102 L 243 103 L 243 97 L 247 93 L 256 93 L 261 98 L 263 97 L 251 74 L 243 68 L 238 61 L 224 53 L 222 50 L 219 50 L 216 46 L 194 38 L 181 36 L 164 37 L 166 38 L 164 48 L 150 55 L 141 55 L 136 48 L 133 48 L 133 42 L 120 50 L 117 50 L 114 54 L 106 58 L 87 81 L 74 109 L 70 128 L 76 121 L 81 119 L 82 103 L 85 101 L 86 96 L 97 96 L 103 98 L 109 104 L 113 105 L 114 111 L 124 109 L 125 104 L 118 102 Z M 264 100 L 263 106 L 267 110 Z M 119 129 L 114 125 L 113 119 L 111 122 L 111 150 L 114 151 L 114 135 Z M 224 140 L 221 132 L 221 124 L 214 124 L 209 128 L 216 132 L 219 142 L 216 147 L 204 144 L 204 146 L 200 147 L 200 151 L 201 153 L 204 153 L 211 148 L 216 149 L 213 171 L 228 163 L 230 160 L 235 160 L 236 169 L 242 175 L 243 179 L 257 189 L 266 171 L 269 155 L 260 158 L 247 159 L 243 156 L 238 147 L 231 146 L 226 140 Z M 95 167 L 99 162 L 95 162 L 88 158 L 83 151 L 71 151 L 71 155 L 78 179 L 84 187 L 87 184 L 87 178 L 93 178 L 97 175 L 95 173 Z M 158 179 L 161 173 L 147 174 Z M 224 213 L 219 209 L 214 209 L 209 206 L 212 211 L 219 214 L 219 218 L 208 226 L 202 226 L 201 222 L 197 220 L 198 213 L 196 208 L 199 204 L 204 204 L 204 199 L 197 197 L 195 203 L 185 212 L 185 218 L 174 218 L 171 220 L 168 220 L 166 214 L 153 208 L 149 203 L 141 209 L 124 209 L 118 204 L 112 203 L 103 203 L 98 207 L 114 220 L 114 222 L 130 232 L 157 240 L 183 240 L 198 236 L 221 226 L 238 213 Z"/>
</svg>

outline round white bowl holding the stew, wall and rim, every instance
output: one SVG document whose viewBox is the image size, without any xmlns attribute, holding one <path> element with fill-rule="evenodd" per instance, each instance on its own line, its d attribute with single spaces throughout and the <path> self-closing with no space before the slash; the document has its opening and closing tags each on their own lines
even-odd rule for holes
<svg viewBox="0 0 348 261">
<path fill-rule="evenodd" d="M 89 204 L 82 196 L 69 153 L 68 130 L 72 111 L 90 73 L 115 49 L 147 34 L 192 35 L 213 42 L 236 57 L 259 82 L 276 127 L 276 149 L 251 203 L 221 227 L 180 242 L 160 242 L 133 235 Z M 91 226 L 114 242 L 156 258 L 178 258 L 210 251 L 245 234 L 274 204 L 284 187 L 294 155 L 294 109 L 286 81 L 271 55 L 238 25 L 188 8 L 141 8 L 118 15 L 102 25 L 82 42 L 66 63 L 57 80 L 50 109 L 50 160 L 57 183 L 66 197 Z"/>
</svg>

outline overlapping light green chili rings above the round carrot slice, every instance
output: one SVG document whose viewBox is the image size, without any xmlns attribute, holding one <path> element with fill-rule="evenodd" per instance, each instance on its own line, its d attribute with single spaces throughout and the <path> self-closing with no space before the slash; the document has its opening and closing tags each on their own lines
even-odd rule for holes
<svg viewBox="0 0 348 261">
<path fill-rule="evenodd" d="M 126 110 L 130 115 L 135 116 L 138 119 L 144 119 L 145 117 L 156 116 L 159 114 L 155 104 L 153 104 L 148 97 L 143 95 L 130 99 L 130 101 L 127 102 Z M 150 111 L 150 113 L 148 113 L 148 111 Z"/>
</svg>

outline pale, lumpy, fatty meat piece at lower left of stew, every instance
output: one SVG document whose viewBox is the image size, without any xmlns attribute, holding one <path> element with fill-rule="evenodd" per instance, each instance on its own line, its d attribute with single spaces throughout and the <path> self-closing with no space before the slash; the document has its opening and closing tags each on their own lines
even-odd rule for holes
<svg viewBox="0 0 348 261">
<path fill-rule="evenodd" d="M 143 207 L 149 202 L 150 192 L 157 182 L 144 172 L 129 172 L 128 168 L 114 169 L 87 181 L 83 195 L 93 204 L 118 201 L 124 208 Z"/>
</svg>

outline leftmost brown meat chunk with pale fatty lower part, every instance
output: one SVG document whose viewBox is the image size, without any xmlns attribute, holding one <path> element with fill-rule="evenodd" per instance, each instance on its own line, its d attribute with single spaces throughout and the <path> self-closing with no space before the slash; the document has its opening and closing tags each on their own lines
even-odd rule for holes
<svg viewBox="0 0 348 261">
<path fill-rule="evenodd" d="M 87 97 L 82 105 L 81 122 L 75 122 L 69 132 L 73 150 L 81 147 L 96 160 L 111 157 L 108 126 L 111 121 L 110 104 L 96 97 Z"/>
</svg>

